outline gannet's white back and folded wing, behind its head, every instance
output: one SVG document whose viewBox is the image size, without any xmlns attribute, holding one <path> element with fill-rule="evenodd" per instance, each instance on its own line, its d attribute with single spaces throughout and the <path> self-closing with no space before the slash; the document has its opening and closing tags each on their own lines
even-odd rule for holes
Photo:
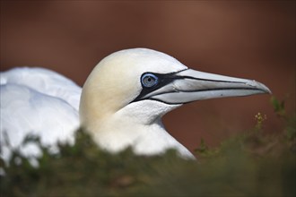
<svg viewBox="0 0 296 197">
<path fill-rule="evenodd" d="M 37 147 L 22 141 L 37 135 L 55 151 L 57 141 L 74 142 L 79 127 L 81 88 L 64 76 L 42 68 L 16 68 L 0 73 L 1 155 L 10 157 L 10 147 L 22 148 L 26 156 L 38 156 Z M 4 136 L 7 136 L 7 143 Z"/>
</svg>

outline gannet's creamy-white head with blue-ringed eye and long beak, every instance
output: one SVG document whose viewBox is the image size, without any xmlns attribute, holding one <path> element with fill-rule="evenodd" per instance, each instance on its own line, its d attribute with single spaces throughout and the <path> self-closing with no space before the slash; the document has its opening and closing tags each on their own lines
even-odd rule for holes
<svg viewBox="0 0 296 197">
<path fill-rule="evenodd" d="M 184 103 L 268 92 L 260 82 L 198 72 L 158 51 L 126 49 L 95 66 L 83 86 L 80 117 L 86 129 L 100 132 L 109 119 L 118 127 L 149 125 Z"/>
</svg>

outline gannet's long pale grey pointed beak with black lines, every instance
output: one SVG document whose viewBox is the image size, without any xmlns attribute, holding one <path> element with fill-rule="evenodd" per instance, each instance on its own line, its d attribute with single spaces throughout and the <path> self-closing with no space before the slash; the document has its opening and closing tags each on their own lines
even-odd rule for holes
<svg viewBox="0 0 296 197">
<path fill-rule="evenodd" d="M 183 104 L 195 100 L 271 93 L 266 85 L 257 81 L 203 73 L 192 69 L 163 74 L 160 78 L 161 83 L 157 89 L 146 92 L 141 99 L 158 100 L 167 104 Z"/>
</svg>

